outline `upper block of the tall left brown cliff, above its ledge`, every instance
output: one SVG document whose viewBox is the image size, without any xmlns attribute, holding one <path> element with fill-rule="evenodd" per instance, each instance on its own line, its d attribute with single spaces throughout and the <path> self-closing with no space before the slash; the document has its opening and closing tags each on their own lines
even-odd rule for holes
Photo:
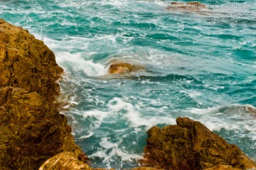
<svg viewBox="0 0 256 170">
<path fill-rule="evenodd" d="M 22 88 L 54 101 L 60 91 L 57 80 L 62 72 L 43 41 L 0 19 L 0 87 Z"/>
</svg>

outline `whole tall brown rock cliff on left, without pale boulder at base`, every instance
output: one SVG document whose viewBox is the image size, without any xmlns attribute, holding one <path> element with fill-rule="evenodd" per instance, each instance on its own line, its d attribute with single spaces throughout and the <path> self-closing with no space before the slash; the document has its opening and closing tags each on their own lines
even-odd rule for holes
<svg viewBox="0 0 256 170">
<path fill-rule="evenodd" d="M 87 159 L 53 103 L 62 72 L 42 41 L 0 19 L 1 169 L 38 169 L 63 151 Z"/>
</svg>

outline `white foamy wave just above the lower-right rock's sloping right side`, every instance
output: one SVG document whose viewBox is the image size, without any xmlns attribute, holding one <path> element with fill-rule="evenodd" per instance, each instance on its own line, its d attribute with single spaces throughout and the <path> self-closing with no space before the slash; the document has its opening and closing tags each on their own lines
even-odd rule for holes
<svg viewBox="0 0 256 170">
<path fill-rule="evenodd" d="M 247 134 L 247 137 L 256 139 L 255 115 L 249 113 L 247 107 L 250 105 L 232 104 L 229 106 L 216 106 L 213 108 L 188 108 L 192 114 L 202 115 L 198 118 L 210 130 L 220 131 L 233 130 L 239 135 Z M 252 107 L 252 106 L 250 106 Z M 193 115 L 191 115 L 193 117 Z"/>
</svg>

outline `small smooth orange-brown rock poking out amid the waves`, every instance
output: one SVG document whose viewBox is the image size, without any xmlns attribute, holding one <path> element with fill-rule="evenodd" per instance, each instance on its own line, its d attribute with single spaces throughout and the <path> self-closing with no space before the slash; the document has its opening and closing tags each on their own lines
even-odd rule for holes
<svg viewBox="0 0 256 170">
<path fill-rule="evenodd" d="M 113 62 L 108 69 L 109 74 L 123 74 L 129 72 L 137 72 L 139 69 L 145 69 L 145 67 L 129 62 Z"/>
</svg>

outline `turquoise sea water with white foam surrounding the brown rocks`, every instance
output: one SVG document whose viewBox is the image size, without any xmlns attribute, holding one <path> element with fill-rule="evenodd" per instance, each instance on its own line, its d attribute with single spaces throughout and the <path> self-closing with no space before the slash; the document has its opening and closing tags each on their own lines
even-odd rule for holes
<svg viewBox="0 0 256 170">
<path fill-rule="evenodd" d="M 0 18 L 43 40 L 65 69 L 62 113 L 93 167 L 137 166 L 153 125 L 187 116 L 256 160 L 256 3 L 166 10 L 171 1 L 0 1 Z M 112 60 L 146 70 L 107 75 Z"/>
</svg>

